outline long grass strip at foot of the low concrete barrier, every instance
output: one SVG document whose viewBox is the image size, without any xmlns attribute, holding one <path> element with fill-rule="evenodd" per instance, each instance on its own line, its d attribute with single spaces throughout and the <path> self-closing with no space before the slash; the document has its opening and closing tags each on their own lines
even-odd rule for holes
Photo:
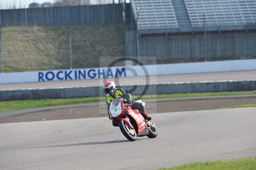
<svg viewBox="0 0 256 170">
<path fill-rule="evenodd" d="M 185 93 L 185 94 L 163 94 L 163 95 L 145 95 L 141 99 L 161 99 L 161 98 L 182 98 L 182 97 L 207 97 L 207 96 L 231 96 L 256 94 L 256 91 L 238 91 L 238 92 L 215 92 L 215 93 Z M 138 96 L 132 96 L 136 98 Z M 87 97 L 71 99 L 41 99 L 41 100 L 22 100 L 0 102 L 0 112 L 14 110 L 31 109 L 38 107 L 49 107 L 70 104 L 87 104 L 95 102 L 104 102 L 105 97 Z"/>
</svg>

